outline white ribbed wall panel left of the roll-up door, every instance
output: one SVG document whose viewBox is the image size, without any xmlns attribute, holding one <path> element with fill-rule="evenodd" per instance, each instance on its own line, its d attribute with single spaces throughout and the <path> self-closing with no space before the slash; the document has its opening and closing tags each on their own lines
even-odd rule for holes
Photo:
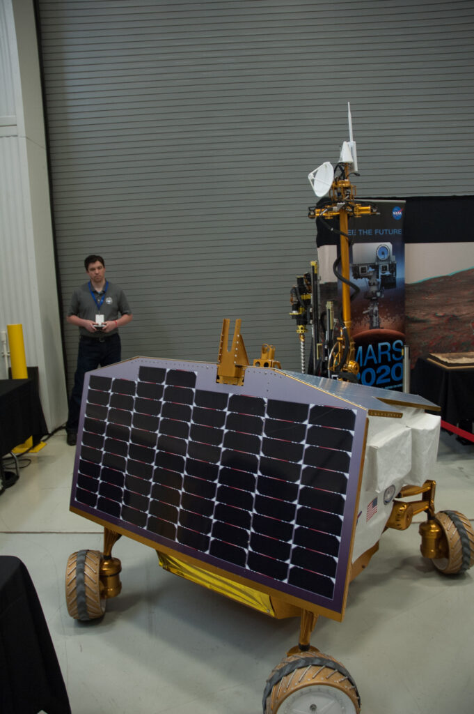
<svg viewBox="0 0 474 714">
<path fill-rule="evenodd" d="M 0 330 L 23 326 L 51 430 L 66 421 L 58 293 L 33 6 L 0 6 Z M 4 361 L 0 376 L 6 377 Z"/>
</svg>

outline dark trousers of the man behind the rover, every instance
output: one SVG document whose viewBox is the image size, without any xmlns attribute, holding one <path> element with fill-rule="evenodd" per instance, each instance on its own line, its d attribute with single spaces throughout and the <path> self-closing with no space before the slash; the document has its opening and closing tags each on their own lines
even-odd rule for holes
<svg viewBox="0 0 474 714">
<path fill-rule="evenodd" d="M 117 333 L 102 339 L 81 336 L 78 349 L 78 363 L 74 376 L 74 386 L 69 400 L 69 415 L 66 431 L 78 431 L 79 413 L 81 411 L 84 375 L 98 367 L 120 362 L 120 337 Z"/>
</svg>

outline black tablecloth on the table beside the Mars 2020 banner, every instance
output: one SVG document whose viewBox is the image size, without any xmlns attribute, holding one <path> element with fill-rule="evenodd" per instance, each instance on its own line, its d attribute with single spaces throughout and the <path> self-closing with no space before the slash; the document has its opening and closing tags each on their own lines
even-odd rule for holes
<svg viewBox="0 0 474 714">
<path fill-rule="evenodd" d="M 441 408 L 450 424 L 474 420 L 474 369 L 447 369 L 428 355 L 418 358 L 411 373 L 411 390 Z"/>
</svg>

